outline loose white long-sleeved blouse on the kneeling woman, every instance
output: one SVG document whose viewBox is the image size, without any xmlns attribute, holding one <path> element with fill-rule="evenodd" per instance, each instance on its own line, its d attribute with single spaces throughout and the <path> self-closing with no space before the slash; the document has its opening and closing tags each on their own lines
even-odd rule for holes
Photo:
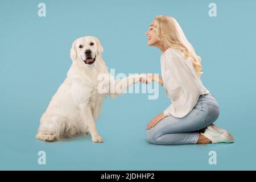
<svg viewBox="0 0 256 182">
<path fill-rule="evenodd" d="M 178 49 L 168 48 L 161 55 L 161 72 L 166 96 L 172 104 L 164 115 L 182 118 L 197 104 L 201 94 L 209 93 L 197 76 L 191 59 Z"/>
</svg>

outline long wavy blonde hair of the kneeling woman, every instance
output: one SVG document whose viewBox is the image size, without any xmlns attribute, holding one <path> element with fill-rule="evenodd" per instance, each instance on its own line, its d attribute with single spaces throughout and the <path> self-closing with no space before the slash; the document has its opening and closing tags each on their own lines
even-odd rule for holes
<svg viewBox="0 0 256 182">
<path fill-rule="evenodd" d="M 160 42 L 164 44 L 164 48 L 174 48 L 183 51 L 185 57 L 190 57 L 199 77 L 203 74 L 200 72 L 203 68 L 201 66 L 201 57 L 196 55 L 195 49 L 191 43 L 188 42 L 181 29 L 179 23 L 171 16 L 158 15 L 154 19 L 154 28 L 156 36 Z"/>
</svg>

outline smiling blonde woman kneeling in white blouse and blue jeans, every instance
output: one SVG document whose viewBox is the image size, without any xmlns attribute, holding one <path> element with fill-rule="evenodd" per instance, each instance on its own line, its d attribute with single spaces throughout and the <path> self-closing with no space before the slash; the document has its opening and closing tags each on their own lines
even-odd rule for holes
<svg viewBox="0 0 256 182">
<path fill-rule="evenodd" d="M 200 80 L 201 59 L 185 38 L 179 23 L 171 16 L 156 16 L 146 35 L 148 46 L 162 51 L 162 77 L 148 74 L 147 79 L 164 86 L 172 102 L 148 123 L 148 142 L 233 143 L 234 138 L 228 131 L 213 125 L 219 115 L 218 103 Z"/>
</svg>

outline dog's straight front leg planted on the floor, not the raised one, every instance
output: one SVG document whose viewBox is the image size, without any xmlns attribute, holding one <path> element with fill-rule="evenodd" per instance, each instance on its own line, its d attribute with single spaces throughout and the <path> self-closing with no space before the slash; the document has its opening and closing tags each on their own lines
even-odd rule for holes
<svg viewBox="0 0 256 182">
<path fill-rule="evenodd" d="M 101 143 L 103 138 L 98 134 L 94 118 L 92 115 L 92 109 L 87 105 L 80 105 L 82 121 L 88 126 L 90 135 L 92 136 L 92 142 Z"/>
</svg>

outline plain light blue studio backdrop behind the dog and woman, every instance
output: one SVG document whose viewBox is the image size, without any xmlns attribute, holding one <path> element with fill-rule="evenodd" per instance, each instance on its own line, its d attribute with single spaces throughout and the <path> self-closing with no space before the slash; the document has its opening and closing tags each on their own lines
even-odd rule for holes
<svg viewBox="0 0 256 182">
<path fill-rule="evenodd" d="M 0 2 L 0 169 L 170 170 L 256 169 L 255 1 L 41 1 Z M 208 5 L 217 5 L 209 17 Z M 170 100 L 125 94 L 104 101 L 97 128 L 105 142 L 80 137 L 46 143 L 35 139 L 39 119 L 71 66 L 73 40 L 93 35 L 116 73 L 160 73 L 160 50 L 145 32 L 156 15 L 174 16 L 202 58 L 201 80 L 221 109 L 216 124 L 234 144 L 157 146 L 145 127 Z M 38 164 L 38 151 L 47 164 Z M 208 152 L 217 152 L 209 165 Z"/>
</svg>

